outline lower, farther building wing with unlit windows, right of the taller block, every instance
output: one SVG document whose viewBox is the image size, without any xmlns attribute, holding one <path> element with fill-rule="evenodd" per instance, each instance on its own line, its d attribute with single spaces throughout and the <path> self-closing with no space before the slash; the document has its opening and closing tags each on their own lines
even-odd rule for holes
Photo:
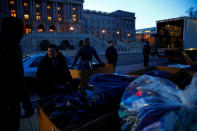
<svg viewBox="0 0 197 131">
<path fill-rule="evenodd" d="M 84 10 L 85 32 L 105 40 L 135 40 L 135 14 Z"/>
</svg>

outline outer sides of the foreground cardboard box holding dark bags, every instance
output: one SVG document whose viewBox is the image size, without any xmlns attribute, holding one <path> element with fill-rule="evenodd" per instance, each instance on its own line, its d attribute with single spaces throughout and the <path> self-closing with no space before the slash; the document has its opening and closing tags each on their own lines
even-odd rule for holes
<svg viewBox="0 0 197 131">
<path fill-rule="evenodd" d="M 50 121 L 43 110 L 37 106 L 40 131 L 103 131 L 120 130 L 120 119 L 117 111 L 106 113 L 91 121 L 84 121 L 60 129 Z"/>
</svg>

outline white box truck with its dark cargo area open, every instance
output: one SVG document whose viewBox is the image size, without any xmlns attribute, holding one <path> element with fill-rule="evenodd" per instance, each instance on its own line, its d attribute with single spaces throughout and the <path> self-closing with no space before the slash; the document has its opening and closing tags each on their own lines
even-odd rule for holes
<svg viewBox="0 0 197 131">
<path fill-rule="evenodd" d="M 197 55 L 197 19 L 179 17 L 157 21 L 154 47 L 171 60 L 194 64 Z"/>
</svg>

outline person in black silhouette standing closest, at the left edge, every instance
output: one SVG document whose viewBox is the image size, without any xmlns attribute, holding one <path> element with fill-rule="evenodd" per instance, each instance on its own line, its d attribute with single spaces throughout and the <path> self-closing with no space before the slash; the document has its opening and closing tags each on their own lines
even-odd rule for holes
<svg viewBox="0 0 197 131">
<path fill-rule="evenodd" d="M 6 17 L 2 20 L 1 26 L 0 75 L 1 109 L 3 109 L 1 130 L 18 131 L 21 117 L 20 103 L 25 110 L 24 117 L 34 114 L 29 94 L 24 86 L 22 51 L 19 45 L 24 34 L 24 25 L 19 18 Z"/>
</svg>

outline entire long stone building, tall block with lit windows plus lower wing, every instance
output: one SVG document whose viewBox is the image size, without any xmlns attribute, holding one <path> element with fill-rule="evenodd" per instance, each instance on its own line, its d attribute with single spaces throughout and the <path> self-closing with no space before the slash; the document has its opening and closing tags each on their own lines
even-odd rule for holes
<svg viewBox="0 0 197 131">
<path fill-rule="evenodd" d="M 83 40 L 87 36 L 98 39 L 97 41 L 135 40 L 135 13 L 84 10 L 83 3 L 84 0 L 1 0 L 0 22 L 6 16 L 23 19 L 26 36 L 30 37 L 33 33 L 34 38 L 29 44 L 34 46 L 39 46 L 43 40 L 40 33 L 48 36 L 55 33 L 53 36 L 57 45 L 61 45 L 62 40 L 66 39 L 67 35 L 62 33 L 69 36 L 64 41 L 74 46 L 77 44 L 76 39 Z"/>
</svg>

